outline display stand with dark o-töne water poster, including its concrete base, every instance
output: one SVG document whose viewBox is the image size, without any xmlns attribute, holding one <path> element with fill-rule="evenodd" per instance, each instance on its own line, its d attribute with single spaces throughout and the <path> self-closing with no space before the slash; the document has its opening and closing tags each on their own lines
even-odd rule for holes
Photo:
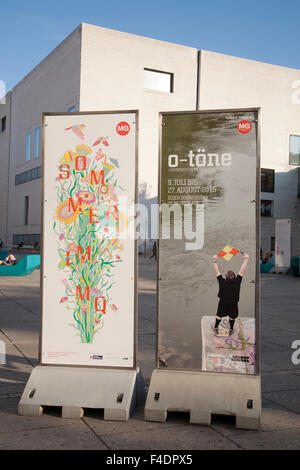
<svg viewBox="0 0 300 470">
<path fill-rule="evenodd" d="M 161 113 L 156 369 L 145 419 L 259 429 L 258 108 Z"/>
</svg>

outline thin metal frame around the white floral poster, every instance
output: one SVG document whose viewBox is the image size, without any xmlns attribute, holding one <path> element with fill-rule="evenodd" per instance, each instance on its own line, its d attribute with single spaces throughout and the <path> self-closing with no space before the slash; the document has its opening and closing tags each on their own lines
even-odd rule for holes
<svg viewBox="0 0 300 470">
<path fill-rule="evenodd" d="M 60 112 L 60 113 L 43 113 L 42 114 L 42 223 L 41 223 L 41 270 L 40 270 L 40 329 L 39 329 L 39 365 L 43 367 L 72 367 L 72 368 L 89 368 L 89 369 L 121 369 L 121 370 L 134 370 L 137 368 L 137 343 L 138 343 L 138 295 L 137 295 L 137 277 L 138 277 L 138 239 L 134 241 L 134 335 L 133 335 L 133 365 L 132 367 L 121 366 L 101 366 L 101 365 L 82 365 L 82 364 L 50 364 L 42 362 L 42 331 L 43 331 L 43 292 L 44 292 L 44 200 L 45 200 L 45 185 L 44 185 L 44 161 L 45 161 L 45 118 L 47 116 L 81 116 L 81 115 L 105 115 L 105 114 L 134 114 L 135 115 L 135 191 L 134 200 L 135 204 L 138 203 L 138 132 L 139 132 L 139 111 L 138 110 L 121 110 L 121 111 L 77 111 L 77 112 Z"/>
</svg>

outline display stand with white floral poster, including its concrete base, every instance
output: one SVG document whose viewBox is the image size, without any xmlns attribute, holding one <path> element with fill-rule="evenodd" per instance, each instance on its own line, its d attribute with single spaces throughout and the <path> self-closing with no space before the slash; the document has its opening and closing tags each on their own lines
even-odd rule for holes
<svg viewBox="0 0 300 470">
<path fill-rule="evenodd" d="M 39 363 L 22 415 L 84 408 L 127 420 L 144 397 L 136 364 L 137 111 L 43 115 Z"/>
</svg>

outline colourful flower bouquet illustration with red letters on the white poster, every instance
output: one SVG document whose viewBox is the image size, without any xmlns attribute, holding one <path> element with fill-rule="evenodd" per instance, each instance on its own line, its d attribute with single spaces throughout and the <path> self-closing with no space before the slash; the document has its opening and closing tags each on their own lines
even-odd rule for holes
<svg viewBox="0 0 300 470">
<path fill-rule="evenodd" d="M 82 343 L 92 343 L 104 326 L 106 304 L 113 305 L 110 310 L 118 311 L 112 303 L 111 288 L 115 267 L 122 261 L 116 252 L 122 246 L 113 227 L 117 224 L 120 231 L 128 223 L 118 211 L 119 165 L 106 162 L 110 155 L 103 154 L 104 162 L 88 157 L 91 152 L 90 147 L 78 145 L 76 151 L 66 150 L 59 161 L 68 164 L 69 177 L 63 184 L 61 181 L 56 184 L 53 227 L 55 230 L 60 224 L 55 230 L 59 241 L 58 267 L 64 273 L 65 287 L 60 302 L 67 310 L 73 310 L 72 325 Z M 91 207 L 95 210 L 92 217 Z"/>
</svg>

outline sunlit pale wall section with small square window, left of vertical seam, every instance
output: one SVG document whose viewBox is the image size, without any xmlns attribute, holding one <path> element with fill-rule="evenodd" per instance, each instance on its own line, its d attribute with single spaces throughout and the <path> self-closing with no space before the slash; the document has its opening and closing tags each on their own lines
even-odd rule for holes
<svg viewBox="0 0 300 470">
<path fill-rule="evenodd" d="M 157 196 L 158 114 L 196 109 L 197 49 L 82 25 L 80 110 L 139 110 L 139 183 Z M 174 74 L 174 92 L 144 89 L 144 68 Z"/>
</svg>

